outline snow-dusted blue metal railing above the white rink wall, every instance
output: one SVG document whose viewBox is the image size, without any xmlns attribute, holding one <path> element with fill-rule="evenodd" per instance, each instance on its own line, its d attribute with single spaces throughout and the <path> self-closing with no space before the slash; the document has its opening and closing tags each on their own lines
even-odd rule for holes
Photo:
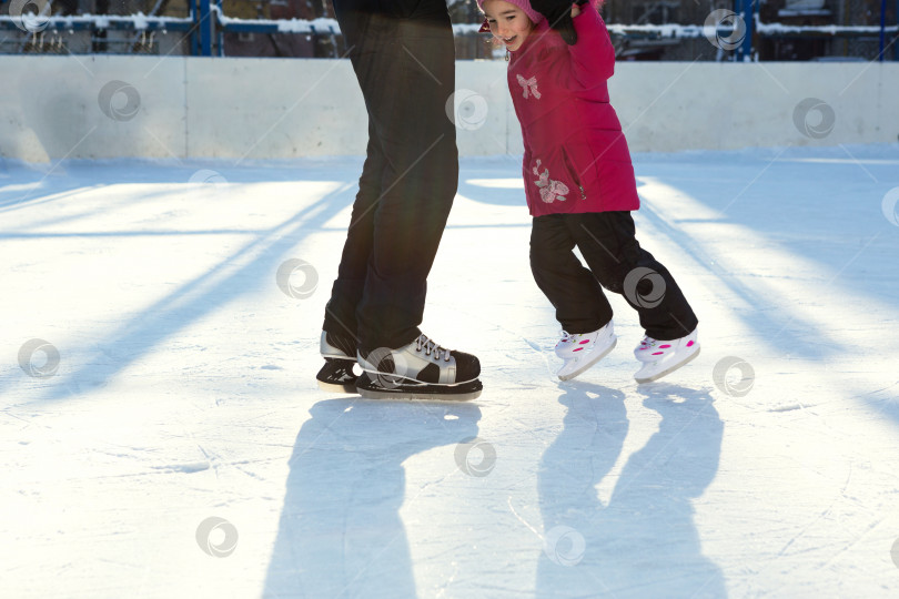
<svg viewBox="0 0 899 599">
<path fill-rule="evenodd" d="M 824 0 L 820 0 L 821 4 Z M 897 11 L 899 11 L 899 0 Z M 892 60 L 899 61 L 899 22 L 887 24 L 886 1 L 880 6 L 879 26 L 795 26 L 779 22 L 762 22 L 760 3 L 755 0 L 734 0 L 734 10 L 719 8 L 713 10 L 705 23 L 699 24 L 627 24 L 612 23 L 608 30 L 616 37 L 627 39 L 691 39 L 707 38 L 711 43 L 727 52 L 734 51 L 728 60 L 740 62 L 752 61 L 757 55 L 756 38 L 789 37 L 824 37 L 824 38 L 870 38 L 876 35 L 879 40 L 878 60 L 887 60 L 887 50 L 892 47 Z M 788 2 L 789 6 L 789 2 Z M 40 9 L 36 14 L 33 9 Z M 224 33 L 254 33 L 269 35 L 275 33 L 295 33 L 303 35 L 326 35 L 336 40 L 341 35 L 340 24 L 336 20 L 320 17 L 307 19 L 241 19 L 229 17 L 222 7 L 222 0 L 194 0 L 189 2 L 189 17 L 166 17 L 155 14 L 159 4 L 150 14 L 138 11 L 133 14 L 51 14 L 49 0 L 13 0 L 9 7 L 9 14 L 0 14 L 0 32 L 26 32 L 24 41 L 17 37 L 7 37 L 6 43 L 18 45 L 19 50 L 12 53 L 27 52 L 59 52 L 72 53 L 63 42 L 64 34 L 75 31 L 89 31 L 92 37 L 102 33 L 100 47 L 104 48 L 98 53 L 119 53 L 111 48 L 124 42 L 124 52 L 170 54 L 164 45 L 153 52 L 153 38 L 155 32 L 163 37 L 169 31 L 181 32 L 181 41 L 186 42 L 182 52 L 193 57 L 224 57 Z M 736 12 L 735 12 L 736 11 Z M 790 10 L 780 10 L 779 16 L 789 16 Z M 796 14 L 792 14 L 796 16 Z M 476 34 L 481 23 L 454 23 L 456 35 Z M 113 40 L 105 37 L 107 31 L 125 31 L 130 40 Z M 148 38 L 148 32 L 150 33 Z M 3 40 L 0 40 L 2 45 Z M 340 58 L 334 43 L 333 58 Z M 122 49 L 119 45 L 119 49 Z M 64 52 L 63 52 L 64 50 Z M 186 50 L 186 52 L 183 52 Z M 93 49 L 97 52 L 97 48 Z M 78 53 L 78 52 L 75 52 Z M 721 57 L 723 58 L 723 57 Z"/>
</svg>

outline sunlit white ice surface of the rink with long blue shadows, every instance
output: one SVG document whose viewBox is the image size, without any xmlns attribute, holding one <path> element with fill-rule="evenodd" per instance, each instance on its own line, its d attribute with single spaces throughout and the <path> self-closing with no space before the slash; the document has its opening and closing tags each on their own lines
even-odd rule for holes
<svg viewBox="0 0 899 599">
<path fill-rule="evenodd" d="M 635 154 L 701 355 L 570 383 L 519 159 L 464 159 L 423 331 L 471 403 L 317 389 L 362 159 L 0 159 L 3 598 L 899 595 L 899 148 Z"/>
</svg>

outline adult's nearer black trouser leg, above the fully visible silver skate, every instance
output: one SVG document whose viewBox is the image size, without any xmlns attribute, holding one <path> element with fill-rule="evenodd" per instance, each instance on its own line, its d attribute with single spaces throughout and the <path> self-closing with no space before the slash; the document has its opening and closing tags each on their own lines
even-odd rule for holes
<svg viewBox="0 0 899 599">
<path fill-rule="evenodd" d="M 434 3 L 423 0 L 420 13 L 388 21 L 388 37 L 357 70 L 385 156 L 356 311 L 365 349 L 401 347 L 421 335 L 427 275 L 458 182 L 456 131 L 446 113 L 455 47 L 445 2 L 436 2 L 442 12 L 426 12 Z"/>
</svg>

